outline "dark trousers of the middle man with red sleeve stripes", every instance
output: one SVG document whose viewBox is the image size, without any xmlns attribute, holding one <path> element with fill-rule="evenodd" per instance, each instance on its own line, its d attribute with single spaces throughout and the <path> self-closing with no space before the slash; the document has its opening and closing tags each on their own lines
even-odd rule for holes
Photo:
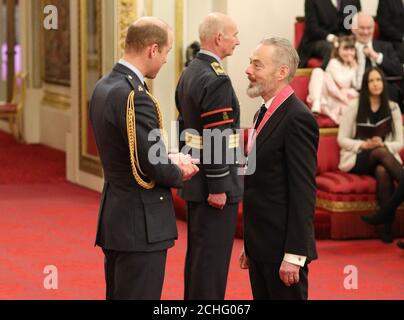
<svg viewBox="0 0 404 320">
<path fill-rule="evenodd" d="M 223 300 L 237 223 L 238 204 L 223 210 L 188 203 L 186 300 Z"/>
</svg>

